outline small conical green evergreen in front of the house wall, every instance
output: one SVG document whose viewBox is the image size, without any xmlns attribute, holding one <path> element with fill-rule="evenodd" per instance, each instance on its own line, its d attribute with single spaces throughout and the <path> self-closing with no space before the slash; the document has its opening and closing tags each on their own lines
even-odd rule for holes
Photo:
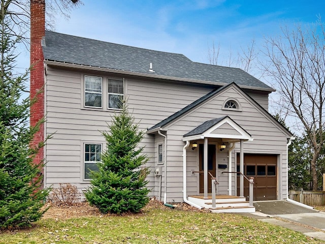
<svg viewBox="0 0 325 244">
<path fill-rule="evenodd" d="M 149 201 L 148 170 L 143 167 L 148 159 L 142 154 L 143 147 L 137 147 L 144 132 L 134 122 L 123 102 L 121 112 L 113 116 L 108 131 L 102 133 L 106 151 L 98 164 L 99 171 L 92 172 L 85 196 L 103 213 L 139 212 Z"/>
</svg>

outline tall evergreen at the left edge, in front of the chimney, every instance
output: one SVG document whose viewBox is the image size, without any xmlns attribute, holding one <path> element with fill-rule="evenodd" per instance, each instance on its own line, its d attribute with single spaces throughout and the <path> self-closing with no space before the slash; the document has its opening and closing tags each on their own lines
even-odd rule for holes
<svg viewBox="0 0 325 244">
<path fill-rule="evenodd" d="M 48 190 L 40 190 L 43 163 L 33 163 L 44 142 L 30 146 L 44 121 L 29 127 L 32 101 L 23 98 L 28 71 L 14 73 L 14 50 L 20 39 L 9 31 L 6 18 L 0 24 L 0 229 L 5 229 L 29 226 L 40 219 Z"/>
</svg>

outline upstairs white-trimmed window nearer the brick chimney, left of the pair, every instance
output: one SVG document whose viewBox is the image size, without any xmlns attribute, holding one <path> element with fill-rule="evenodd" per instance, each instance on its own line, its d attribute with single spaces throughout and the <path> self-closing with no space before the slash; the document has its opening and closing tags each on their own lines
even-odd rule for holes
<svg viewBox="0 0 325 244">
<path fill-rule="evenodd" d="M 85 107 L 102 108 L 102 77 L 85 76 Z"/>
</svg>

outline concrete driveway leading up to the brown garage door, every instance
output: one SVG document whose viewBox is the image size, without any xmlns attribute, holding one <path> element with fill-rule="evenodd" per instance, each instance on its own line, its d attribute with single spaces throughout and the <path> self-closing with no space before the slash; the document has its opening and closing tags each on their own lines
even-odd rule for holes
<svg viewBox="0 0 325 244">
<path fill-rule="evenodd" d="M 254 206 L 255 214 L 247 216 L 325 240 L 325 212 L 287 201 L 258 201 Z"/>
</svg>

